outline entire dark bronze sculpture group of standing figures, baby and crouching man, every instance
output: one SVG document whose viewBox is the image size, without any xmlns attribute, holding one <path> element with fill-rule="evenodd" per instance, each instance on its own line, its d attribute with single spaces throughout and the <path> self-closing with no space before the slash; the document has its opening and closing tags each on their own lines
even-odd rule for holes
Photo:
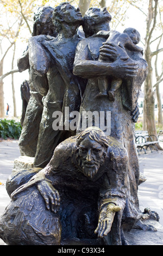
<svg viewBox="0 0 163 256">
<path fill-rule="evenodd" d="M 27 107 L 20 149 L 31 156 L 32 148 L 35 168 L 9 177 L 0 237 L 9 245 L 126 245 L 123 231 L 142 216 L 134 122 L 148 66 L 136 46 L 140 34 L 110 31 L 106 8 L 90 8 L 82 18 L 64 2 L 52 20 L 56 34 L 35 32 L 26 58 L 42 111 Z M 76 131 L 52 127 L 53 113 L 65 107 L 81 114 Z M 95 123 L 83 129 L 83 111 L 104 111 L 104 119 L 110 111 L 110 135 Z M 27 141 L 32 115 L 39 121 L 35 141 Z"/>
</svg>

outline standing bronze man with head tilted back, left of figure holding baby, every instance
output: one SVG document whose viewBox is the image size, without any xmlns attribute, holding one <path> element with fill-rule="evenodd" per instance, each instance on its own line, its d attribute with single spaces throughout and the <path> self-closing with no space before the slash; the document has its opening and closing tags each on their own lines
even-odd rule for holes
<svg viewBox="0 0 163 256">
<path fill-rule="evenodd" d="M 53 23 L 57 29 L 56 38 L 35 36 L 29 40 L 30 66 L 33 73 L 47 74 L 48 93 L 43 100 L 43 113 L 34 160 L 35 167 L 45 167 L 57 145 L 74 131 L 53 130 L 53 113 L 70 107 L 70 112 L 80 106 L 79 80 L 73 75 L 76 46 L 80 40 L 78 27 L 82 22 L 79 9 L 64 2 L 54 8 Z M 55 114 L 54 114 L 55 115 Z M 57 118 L 57 116 L 55 116 Z"/>
</svg>

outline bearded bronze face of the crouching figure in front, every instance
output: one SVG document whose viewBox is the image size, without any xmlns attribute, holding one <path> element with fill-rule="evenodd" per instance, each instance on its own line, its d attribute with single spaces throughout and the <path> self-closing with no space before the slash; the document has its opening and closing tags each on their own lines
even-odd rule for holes
<svg viewBox="0 0 163 256">
<path fill-rule="evenodd" d="M 104 163 L 104 147 L 87 136 L 79 145 L 78 164 L 85 176 L 93 178 Z"/>
</svg>

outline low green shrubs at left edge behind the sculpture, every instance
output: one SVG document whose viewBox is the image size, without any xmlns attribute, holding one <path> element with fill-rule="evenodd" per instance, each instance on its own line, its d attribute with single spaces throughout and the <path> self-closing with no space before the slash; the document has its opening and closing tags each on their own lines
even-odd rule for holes
<svg viewBox="0 0 163 256">
<path fill-rule="evenodd" d="M 21 135 L 21 123 L 15 120 L 0 119 L 0 137 L 18 139 Z"/>
</svg>

